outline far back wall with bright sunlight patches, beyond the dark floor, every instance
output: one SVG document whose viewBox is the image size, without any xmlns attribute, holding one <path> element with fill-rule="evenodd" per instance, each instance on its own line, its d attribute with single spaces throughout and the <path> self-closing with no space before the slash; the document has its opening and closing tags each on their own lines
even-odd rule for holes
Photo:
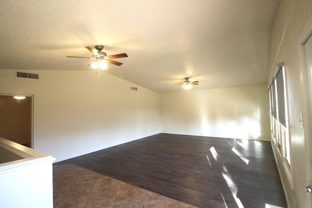
<svg viewBox="0 0 312 208">
<path fill-rule="evenodd" d="M 270 141 L 267 85 L 161 94 L 162 132 Z"/>
</svg>

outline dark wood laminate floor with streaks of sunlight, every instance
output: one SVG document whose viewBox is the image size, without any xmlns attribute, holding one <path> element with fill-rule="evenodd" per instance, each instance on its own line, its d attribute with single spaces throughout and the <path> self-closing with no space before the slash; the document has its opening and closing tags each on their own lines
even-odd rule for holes
<svg viewBox="0 0 312 208">
<path fill-rule="evenodd" d="M 199 208 L 287 207 L 270 142 L 160 133 L 66 163 Z"/>
</svg>

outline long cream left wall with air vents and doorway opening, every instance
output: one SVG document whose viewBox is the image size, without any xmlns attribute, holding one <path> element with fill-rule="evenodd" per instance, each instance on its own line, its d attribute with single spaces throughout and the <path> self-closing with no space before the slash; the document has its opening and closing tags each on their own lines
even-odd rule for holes
<svg viewBox="0 0 312 208">
<path fill-rule="evenodd" d="M 56 162 L 161 132 L 155 92 L 95 71 L 27 72 L 39 80 L 0 70 L 0 94 L 34 95 L 33 148 Z"/>
</svg>

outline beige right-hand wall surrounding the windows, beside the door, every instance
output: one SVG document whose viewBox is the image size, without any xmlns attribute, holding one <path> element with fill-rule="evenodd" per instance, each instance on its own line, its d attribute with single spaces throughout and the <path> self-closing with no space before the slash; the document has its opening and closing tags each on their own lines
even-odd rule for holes
<svg viewBox="0 0 312 208">
<path fill-rule="evenodd" d="M 311 207 L 311 196 L 305 191 L 309 184 L 307 144 L 311 141 L 306 68 L 302 64 L 301 43 L 312 34 L 312 1 L 281 0 L 273 26 L 272 48 L 268 81 L 279 62 L 285 63 L 286 91 L 288 96 L 291 167 L 288 168 L 283 152 L 273 147 L 289 206 Z M 304 129 L 299 114 L 303 113 Z M 289 172 L 289 174 L 288 174 Z M 289 175 L 289 177 L 288 177 Z M 293 202 L 294 199 L 294 202 Z"/>
</svg>

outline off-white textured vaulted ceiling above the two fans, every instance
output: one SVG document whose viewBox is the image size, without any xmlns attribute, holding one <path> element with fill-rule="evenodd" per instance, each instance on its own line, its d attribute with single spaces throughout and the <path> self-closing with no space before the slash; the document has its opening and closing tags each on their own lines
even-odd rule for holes
<svg viewBox="0 0 312 208">
<path fill-rule="evenodd" d="M 93 70 L 85 47 L 123 65 L 105 72 L 158 93 L 267 81 L 280 0 L 2 0 L 0 69 Z M 103 72 L 102 72 L 103 73 Z M 95 76 L 97 76 L 95 72 Z"/>
</svg>

